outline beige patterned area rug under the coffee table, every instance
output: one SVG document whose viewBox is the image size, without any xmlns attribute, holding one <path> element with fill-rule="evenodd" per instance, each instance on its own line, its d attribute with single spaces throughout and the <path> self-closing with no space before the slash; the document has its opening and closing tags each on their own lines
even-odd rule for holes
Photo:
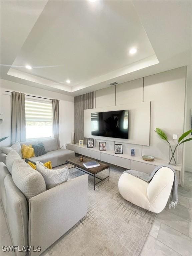
<svg viewBox="0 0 192 256">
<path fill-rule="evenodd" d="M 71 166 L 69 166 L 71 167 Z M 51 256 L 136 256 L 156 217 L 122 198 L 118 180 L 123 168 L 110 166 L 110 181 L 93 190 L 93 177 L 88 182 L 88 212 L 73 228 L 48 248 Z M 84 173 L 72 168 L 70 178 Z M 103 171 L 101 177 L 107 176 Z"/>
</svg>

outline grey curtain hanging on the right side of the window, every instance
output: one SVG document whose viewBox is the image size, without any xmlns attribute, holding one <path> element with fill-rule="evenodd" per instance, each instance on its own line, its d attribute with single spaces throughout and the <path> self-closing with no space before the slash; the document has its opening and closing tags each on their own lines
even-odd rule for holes
<svg viewBox="0 0 192 256">
<path fill-rule="evenodd" d="M 59 100 L 52 99 L 53 108 L 53 135 L 57 139 L 57 146 L 61 148 L 59 141 Z"/>
</svg>

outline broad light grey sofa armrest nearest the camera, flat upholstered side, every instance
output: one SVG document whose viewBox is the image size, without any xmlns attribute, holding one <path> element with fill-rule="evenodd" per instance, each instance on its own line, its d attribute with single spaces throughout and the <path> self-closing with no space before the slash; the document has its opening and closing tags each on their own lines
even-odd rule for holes
<svg viewBox="0 0 192 256">
<path fill-rule="evenodd" d="M 29 246 L 41 246 L 40 255 L 87 214 L 88 174 L 29 200 Z"/>
</svg>

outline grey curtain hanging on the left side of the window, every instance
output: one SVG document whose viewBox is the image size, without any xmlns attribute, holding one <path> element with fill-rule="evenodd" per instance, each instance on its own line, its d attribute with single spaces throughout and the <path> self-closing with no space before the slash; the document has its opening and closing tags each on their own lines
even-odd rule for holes
<svg viewBox="0 0 192 256">
<path fill-rule="evenodd" d="M 26 141 L 25 94 L 12 92 L 11 142 Z"/>
</svg>

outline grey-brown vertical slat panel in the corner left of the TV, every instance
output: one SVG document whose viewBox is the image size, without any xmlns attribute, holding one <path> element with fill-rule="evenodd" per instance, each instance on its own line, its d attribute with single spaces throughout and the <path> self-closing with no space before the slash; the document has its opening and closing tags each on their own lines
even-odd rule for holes
<svg viewBox="0 0 192 256">
<path fill-rule="evenodd" d="M 86 93 L 75 97 L 75 142 L 84 140 L 87 144 L 89 138 L 83 137 L 83 110 L 94 108 L 95 92 Z"/>
</svg>

